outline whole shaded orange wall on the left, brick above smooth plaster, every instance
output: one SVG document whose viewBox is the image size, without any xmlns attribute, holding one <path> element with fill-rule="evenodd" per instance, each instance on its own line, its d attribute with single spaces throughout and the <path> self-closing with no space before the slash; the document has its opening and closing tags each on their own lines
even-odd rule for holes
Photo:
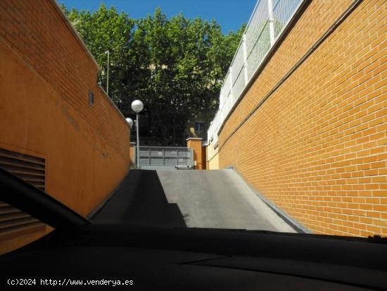
<svg viewBox="0 0 387 291">
<path fill-rule="evenodd" d="M 46 192 L 86 216 L 130 165 L 129 126 L 98 65 L 53 0 L 0 1 L 0 60 L 0 147 L 44 158 Z M 43 234 L 0 237 L 0 254 Z"/>
</svg>

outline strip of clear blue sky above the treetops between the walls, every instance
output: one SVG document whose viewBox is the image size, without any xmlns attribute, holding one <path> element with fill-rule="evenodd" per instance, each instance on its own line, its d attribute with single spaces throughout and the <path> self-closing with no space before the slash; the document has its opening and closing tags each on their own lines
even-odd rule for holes
<svg viewBox="0 0 387 291">
<path fill-rule="evenodd" d="M 222 32 L 238 30 L 242 23 L 247 23 L 257 0 L 57 0 L 67 8 L 94 11 L 101 2 L 106 6 L 115 6 L 118 11 L 125 11 L 132 18 L 152 14 L 157 6 L 168 17 L 182 12 L 184 16 L 203 19 L 215 18 L 222 26 Z"/>
</svg>

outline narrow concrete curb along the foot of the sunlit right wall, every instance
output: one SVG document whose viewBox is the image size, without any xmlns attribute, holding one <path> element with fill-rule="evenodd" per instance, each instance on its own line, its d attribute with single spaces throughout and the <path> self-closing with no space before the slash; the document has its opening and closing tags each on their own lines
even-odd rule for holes
<svg viewBox="0 0 387 291">
<path fill-rule="evenodd" d="M 265 202 L 265 204 L 267 204 L 267 206 L 269 206 L 270 209 L 272 209 L 275 213 L 277 213 L 277 215 L 279 217 L 281 217 L 284 221 L 286 221 L 286 223 L 291 225 L 291 227 L 294 228 L 294 230 L 296 230 L 298 233 L 312 233 L 312 231 L 310 229 L 306 228 L 304 225 L 302 225 L 300 222 L 298 222 L 295 218 L 289 216 L 288 213 L 286 213 L 284 210 L 279 208 L 279 206 L 274 204 L 274 202 L 272 202 L 270 199 L 265 197 L 265 195 L 263 195 L 258 190 L 256 190 L 255 187 L 253 187 L 253 185 L 250 185 L 250 183 L 248 183 L 243 178 L 241 173 L 239 173 L 239 171 L 236 170 L 236 168 L 234 166 L 231 166 L 231 165 L 227 166 L 226 169 L 234 170 L 235 173 L 237 173 L 239 175 L 239 177 L 241 177 L 241 179 L 246 182 L 246 185 L 248 185 L 248 187 L 255 193 L 255 195 L 257 195 L 260 199 L 262 199 L 262 201 Z"/>
</svg>

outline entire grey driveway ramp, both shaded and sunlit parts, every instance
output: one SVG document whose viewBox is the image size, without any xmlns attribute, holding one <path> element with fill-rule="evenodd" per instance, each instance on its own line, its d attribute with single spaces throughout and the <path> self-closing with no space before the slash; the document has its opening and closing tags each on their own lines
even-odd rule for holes
<svg viewBox="0 0 387 291">
<path fill-rule="evenodd" d="M 128 227 L 295 230 L 228 170 L 131 170 L 91 216 Z"/>
</svg>

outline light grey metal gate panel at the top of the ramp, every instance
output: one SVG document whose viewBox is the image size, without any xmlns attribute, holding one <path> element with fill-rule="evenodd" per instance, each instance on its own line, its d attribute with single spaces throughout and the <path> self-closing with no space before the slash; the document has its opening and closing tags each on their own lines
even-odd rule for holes
<svg viewBox="0 0 387 291">
<path fill-rule="evenodd" d="M 137 163 L 137 147 L 134 156 Z M 191 147 L 141 147 L 140 168 L 145 170 L 194 168 L 194 151 Z"/>
</svg>

